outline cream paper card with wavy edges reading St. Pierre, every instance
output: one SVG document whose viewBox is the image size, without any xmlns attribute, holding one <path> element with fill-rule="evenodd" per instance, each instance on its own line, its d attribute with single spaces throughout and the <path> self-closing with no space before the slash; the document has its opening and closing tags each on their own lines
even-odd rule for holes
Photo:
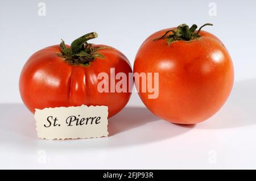
<svg viewBox="0 0 256 181">
<path fill-rule="evenodd" d="M 64 140 L 108 136 L 107 106 L 35 109 L 39 138 Z"/>
</svg>

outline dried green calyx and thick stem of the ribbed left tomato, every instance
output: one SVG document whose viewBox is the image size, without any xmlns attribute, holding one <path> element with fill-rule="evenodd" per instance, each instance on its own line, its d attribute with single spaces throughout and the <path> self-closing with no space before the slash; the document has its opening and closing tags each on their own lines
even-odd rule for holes
<svg viewBox="0 0 256 181">
<path fill-rule="evenodd" d="M 87 43 L 88 40 L 94 39 L 98 37 L 96 32 L 87 33 L 84 36 L 79 37 L 71 43 L 71 47 L 67 48 L 65 42 L 61 40 L 60 56 L 65 59 L 65 61 L 70 64 L 75 65 L 89 65 L 91 61 L 94 61 L 97 57 L 105 58 L 102 54 L 97 53 L 99 49 L 106 49 L 108 47 L 93 47 L 92 44 Z"/>
</svg>

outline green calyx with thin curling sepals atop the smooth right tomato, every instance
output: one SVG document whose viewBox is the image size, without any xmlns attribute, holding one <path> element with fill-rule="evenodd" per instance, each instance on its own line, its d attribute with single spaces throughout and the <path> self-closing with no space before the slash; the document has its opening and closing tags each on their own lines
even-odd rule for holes
<svg viewBox="0 0 256 181">
<path fill-rule="evenodd" d="M 199 28 L 198 31 L 197 25 L 193 24 L 190 28 L 187 24 L 180 24 L 180 26 L 177 27 L 177 30 L 169 30 L 166 33 L 164 33 L 163 36 L 154 39 L 155 40 L 160 40 L 160 39 L 166 39 L 168 45 L 170 45 L 174 41 L 191 41 L 191 40 L 196 40 L 199 39 L 201 36 L 199 35 L 201 29 L 205 26 L 213 26 L 213 24 L 207 23 L 204 24 Z M 169 32 L 172 32 L 170 35 L 167 35 Z"/>
</svg>

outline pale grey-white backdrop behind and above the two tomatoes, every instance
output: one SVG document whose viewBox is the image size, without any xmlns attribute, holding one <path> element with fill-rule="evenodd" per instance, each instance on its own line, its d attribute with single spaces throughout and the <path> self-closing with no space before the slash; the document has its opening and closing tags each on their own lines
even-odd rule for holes
<svg viewBox="0 0 256 181">
<path fill-rule="evenodd" d="M 38 3 L 46 3 L 46 16 Z M 210 16 L 211 3 L 216 16 Z M 22 103 L 20 70 L 32 53 L 64 39 L 70 44 L 85 33 L 97 31 L 90 41 L 119 49 L 133 65 L 137 50 L 152 33 L 187 23 L 205 27 L 219 37 L 234 62 L 235 79 L 256 78 L 256 1 L 233 0 L 1 0 L 0 103 Z"/>
</svg>

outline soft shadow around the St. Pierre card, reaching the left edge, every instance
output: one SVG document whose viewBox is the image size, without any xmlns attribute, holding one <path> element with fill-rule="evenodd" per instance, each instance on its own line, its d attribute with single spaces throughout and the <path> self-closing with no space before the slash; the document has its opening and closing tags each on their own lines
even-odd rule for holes
<svg viewBox="0 0 256 181">
<path fill-rule="evenodd" d="M 37 138 L 34 116 L 23 104 L 0 104 L 0 142 L 14 148 L 58 151 L 108 149 L 161 141 L 191 129 L 160 120 L 146 107 L 127 106 L 109 119 L 109 137 L 77 140 Z M 8 119 L 8 120 L 7 120 Z"/>
</svg>

